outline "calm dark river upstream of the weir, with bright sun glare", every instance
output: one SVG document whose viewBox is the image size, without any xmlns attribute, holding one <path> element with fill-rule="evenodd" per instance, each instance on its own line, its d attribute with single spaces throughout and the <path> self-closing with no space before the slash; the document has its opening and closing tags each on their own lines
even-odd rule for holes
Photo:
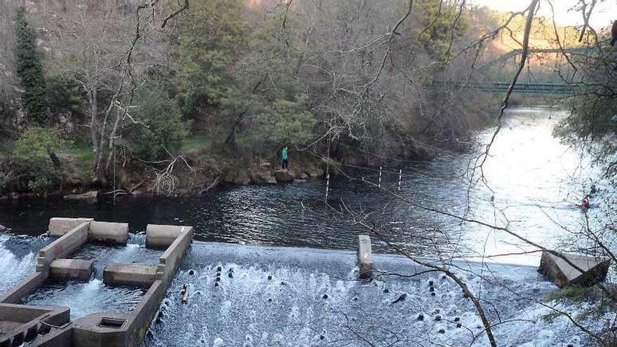
<svg viewBox="0 0 617 347">
<path fill-rule="evenodd" d="M 344 167 L 346 175 L 333 180 L 327 205 L 325 182 L 313 180 L 229 187 L 194 198 L 0 202 L 0 223 L 15 233 L 39 235 L 46 231 L 50 217 L 94 217 L 128 222 L 133 233 L 143 232 L 148 223 L 184 224 L 194 226 L 196 239 L 203 241 L 352 250 L 358 233 L 367 230 L 339 214 L 344 205 L 356 215 L 368 215 L 369 222 L 382 226 L 385 240 L 411 254 L 536 265 L 538 254 L 495 257 L 529 250 L 521 240 L 417 205 L 507 225 L 546 247 L 566 243 L 563 227 L 578 230 L 583 222 L 576 204 L 583 198 L 584 184 L 589 184 L 583 177 L 592 169 L 552 136 L 563 116 L 564 112 L 550 107 L 506 112 L 504 126 L 482 170 L 475 170 L 475 179 L 470 179 L 475 160 L 493 128 L 479 132 L 477 144 L 468 153 L 445 153 L 433 161 L 393 161 L 382 168 L 383 189 L 374 186 L 379 168 Z M 480 172 L 485 181 L 477 181 Z M 375 238 L 374 243 L 377 252 L 393 252 L 383 240 Z"/>
</svg>

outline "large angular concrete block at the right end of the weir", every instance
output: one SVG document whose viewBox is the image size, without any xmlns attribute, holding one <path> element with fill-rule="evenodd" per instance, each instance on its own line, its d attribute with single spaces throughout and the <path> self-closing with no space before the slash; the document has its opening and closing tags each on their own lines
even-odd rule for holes
<svg viewBox="0 0 617 347">
<path fill-rule="evenodd" d="M 578 254 L 562 255 L 581 268 L 583 272 L 572 267 L 564 259 L 546 251 L 542 252 L 540 268 L 538 268 L 538 272 L 548 276 L 560 288 L 568 285 L 595 285 L 604 280 L 609 272 L 609 259 Z"/>
</svg>

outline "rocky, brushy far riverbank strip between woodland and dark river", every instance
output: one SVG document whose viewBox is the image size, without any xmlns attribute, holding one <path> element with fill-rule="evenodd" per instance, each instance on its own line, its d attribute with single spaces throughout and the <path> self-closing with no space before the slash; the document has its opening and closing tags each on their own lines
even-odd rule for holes
<svg viewBox="0 0 617 347">
<path fill-rule="evenodd" d="M 203 137 L 185 140 L 175 158 L 148 163 L 121 158 L 112 163 L 112 177 L 92 179 L 93 151 L 88 145 L 65 147 L 57 152 L 60 166 L 51 161 L 14 161 L 10 152 L 0 153 L 0 200 L 66 196 L 70 200 L 91 200 L 105 196 L 198 196 L 220 186 L 285 184 L 307 179 L 326 179 L 350 168 L 379 168 L 388 163 L 439 158 L 443 153 L 461 153 L 469 140 L 418 147 L 405 156 L 372 154 L 338 144 L 331 158 L 313 151 L 290 149 L 290 166 L 280 168 L 278 155 L 255 158 L 233 156 L 212 148 Z M 448 148 L 448 149 L 445 149 Z"/>
</svg>

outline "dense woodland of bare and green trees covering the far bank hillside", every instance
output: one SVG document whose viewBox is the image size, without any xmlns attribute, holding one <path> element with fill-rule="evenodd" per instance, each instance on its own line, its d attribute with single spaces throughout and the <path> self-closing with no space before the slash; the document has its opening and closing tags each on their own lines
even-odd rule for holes
<svg viewBox="0 0 617 347">
<path fill-rule="evenodd" d="M 0 6 L 4 194 L 260 182 L 250 168 L 283 146 L 316 175 L 463 150 L 501 102 L 468 86 L 499 79 L 479 67 L 520 48 L 524 25 L 439 0 Z"/>
</svg>

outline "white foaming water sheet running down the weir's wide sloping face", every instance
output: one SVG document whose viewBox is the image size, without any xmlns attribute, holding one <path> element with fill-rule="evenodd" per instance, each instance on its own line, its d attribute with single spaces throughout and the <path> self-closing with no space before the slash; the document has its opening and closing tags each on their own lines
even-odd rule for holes
<svg viewBox="0 0 617 347">
<path fill-rule="evenodd" d="M 195 242 L 143 346 L 469 346 L 470 332 L 482 332 L 482 320 L 453 280 L 386 275 L 418 269 L 402 257 L 377 256 L 384 272 L 358 282 L 354 264 L 351 252 Z M 571 336 L 567 320 L 541 320 L 546 313 L 535 300 L 554 286 L 534 268 L 496 266 L 502 278 L 495 284 L 459 266 L 470 290 L 494 303 L 501 319 L 515 320 L 494 328 L 504 346 L 532 346 L 536 339 L 543 346 L 585 345 Z M 189 302 L 181 304 L 185 284 Z M 485 336 L 473 342 L 487 344 Z"/>
</svg>

